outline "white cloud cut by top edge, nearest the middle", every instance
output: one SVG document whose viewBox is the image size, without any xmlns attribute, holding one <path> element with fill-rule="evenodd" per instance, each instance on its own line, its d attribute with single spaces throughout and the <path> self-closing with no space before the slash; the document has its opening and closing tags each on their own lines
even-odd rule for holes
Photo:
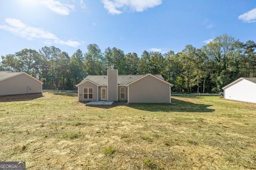
<svg viewBox="0 0 256 170">
<path fill-rule="evenodd" d="M 124 11 L 142 12 L 162 4 L 162 0 L 102 0 L 102 2 L 111 14 L 121 14 Z"/>
</svg>

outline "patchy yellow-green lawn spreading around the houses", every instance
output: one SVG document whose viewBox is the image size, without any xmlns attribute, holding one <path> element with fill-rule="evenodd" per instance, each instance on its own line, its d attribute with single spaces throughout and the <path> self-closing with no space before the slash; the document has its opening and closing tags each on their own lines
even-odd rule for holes
<svg viewBox="0 0 256 170">
<path fill-rule="evenodd" d="M 0 160 L 27 169 L 256 169 L 256 105 L 220 97 L 86 107 L 76 94 L 0 101 Z"/>
</svg>

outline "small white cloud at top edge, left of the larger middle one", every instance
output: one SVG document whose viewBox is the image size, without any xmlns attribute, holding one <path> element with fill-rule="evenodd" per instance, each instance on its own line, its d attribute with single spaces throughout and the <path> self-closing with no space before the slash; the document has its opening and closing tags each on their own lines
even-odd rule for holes
<svg viewBox="0 0 256 170">
<path fill-rule="evenodd" d="M 53 12 L 60 15 L 69 15 L 71 11 L 75 10 L 75 5 L 63 4 L 59 1 L 44 0 L 44 1 L 40 1 L 40 3 L 45 5 L 47 8 L 49 8 Z"/>
</svg>

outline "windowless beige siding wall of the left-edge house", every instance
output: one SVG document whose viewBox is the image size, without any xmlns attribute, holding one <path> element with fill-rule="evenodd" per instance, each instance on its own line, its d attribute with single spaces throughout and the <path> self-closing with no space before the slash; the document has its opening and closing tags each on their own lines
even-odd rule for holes
<svg viewBox="0 0 256 170">
<path fill-rule="evenodd" d="M 26 74 L 0 81 L 0 96 L 42 93 L 42 83 Z"/>
</svg>

